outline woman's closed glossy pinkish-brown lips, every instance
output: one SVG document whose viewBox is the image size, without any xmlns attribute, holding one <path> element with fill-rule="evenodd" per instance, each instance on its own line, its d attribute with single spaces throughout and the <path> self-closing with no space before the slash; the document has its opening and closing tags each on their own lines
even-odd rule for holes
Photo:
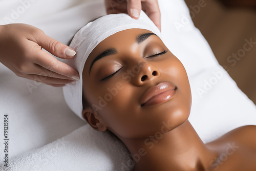
<svg viewBox="0 0 256 171">
<path fill-rule="evenodd" d="M 175 95 L 176 87 L 170 82 L 160 82 L 148 89 L 142 99 L 141 106 L 154 105 L 165 102 Z"/>
</svg>

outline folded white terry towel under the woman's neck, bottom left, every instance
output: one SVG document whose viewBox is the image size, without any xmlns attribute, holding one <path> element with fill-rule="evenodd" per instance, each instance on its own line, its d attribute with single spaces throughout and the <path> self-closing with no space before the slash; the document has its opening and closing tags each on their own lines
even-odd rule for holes
<svg viewBox="0 0 256 171">
<path fill-rule="evenodd" d="M 114 155 L 113 155 L 113 152 Z M 90 125 L 9 160 L 10 171 L 132 170 L 133 160 L 125 145 L 112 133 L 98 132 Z"/>
</svg>

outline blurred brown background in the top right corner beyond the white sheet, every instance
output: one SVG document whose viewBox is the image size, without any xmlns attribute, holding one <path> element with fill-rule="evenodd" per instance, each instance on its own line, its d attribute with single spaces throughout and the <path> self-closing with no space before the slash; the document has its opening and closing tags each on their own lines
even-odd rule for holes
<svg viewBox="0 0 256 171">
<path fill-rule="evenodd" d="M 195 26 L 208 41 L 220 65 L 256 104 L 256 2 L 185 2 Z"/>
</svg>

